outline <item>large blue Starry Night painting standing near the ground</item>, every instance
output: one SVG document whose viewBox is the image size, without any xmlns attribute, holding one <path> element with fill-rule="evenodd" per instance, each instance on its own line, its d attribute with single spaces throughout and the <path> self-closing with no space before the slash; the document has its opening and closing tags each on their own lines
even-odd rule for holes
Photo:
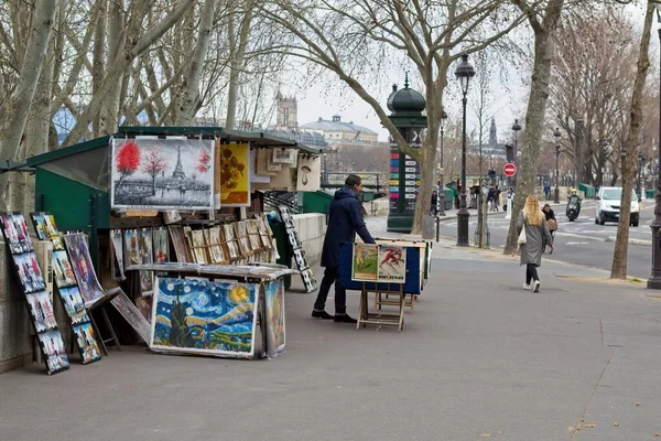
<svg viewBox="0 0 661 441">
<path fill-rule="evenodd" d="M 252 357 L 259 284 L 158 278 L 150 348 Z"/>
</svg>

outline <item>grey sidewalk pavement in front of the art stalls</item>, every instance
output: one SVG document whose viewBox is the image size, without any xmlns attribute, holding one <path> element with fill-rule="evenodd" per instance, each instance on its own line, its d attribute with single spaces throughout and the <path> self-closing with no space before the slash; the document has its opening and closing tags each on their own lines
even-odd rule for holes
<svg viewBox="0 0 661 441">
<path fill-rule="evenodd" d="M 544 261 L 540 293 L 523 275 L 516 258 L 443 240 L 402 333 L 313 320 L 315 294 L 289 293 L 273 361 L 137 348 L 53 377 L 7 373 L 1 438 L 658 439 L 661 299 L 578 266 Z"/>
</svg>

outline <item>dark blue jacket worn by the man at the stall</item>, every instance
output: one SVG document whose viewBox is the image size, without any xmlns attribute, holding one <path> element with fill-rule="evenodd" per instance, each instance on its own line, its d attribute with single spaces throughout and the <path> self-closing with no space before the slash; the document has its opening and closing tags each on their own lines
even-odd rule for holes
<svg viewBox="0 0 661 441">
<path fill-rule="evenodd" d="M 328 228 L 322 250 L 322 267 L 337 267 L 339 265 L 339 244 L 353 243 L 356 233 L 364 243 L 375 243 L 362 220 L 360 202 L 356 192 L 345 185 L 335 192 L 335 197 L 328 207 Z"/>
</svg>

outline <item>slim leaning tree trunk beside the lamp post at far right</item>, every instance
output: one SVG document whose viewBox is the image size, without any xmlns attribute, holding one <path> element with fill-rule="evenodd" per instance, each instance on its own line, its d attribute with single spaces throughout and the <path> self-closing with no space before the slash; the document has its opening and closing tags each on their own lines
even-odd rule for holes
<svg viewBox="0 0 661 441">
<path fill-rule="evenodd" d="M 629 222 L 631 219 L 631 190 L 636 176 L 636 164 L 638 160 L 638 147 L 640 143 L 640 126 L 642 123 L 642 94 L 644 80 L 650 67 L 650 34 L 654 3 L 648 1 L 640 40 L 640 54 L 638 55 L 638 72 L 633 83 L 631 96 L 631 117 L 629 120 L 629 133 L 627 136 L 627 157 L 625 159 L 625 172 L 622 176 L 622 198 L 620 203 L 620 216 L 617 225 L 615 249 L 613 251 L 613 266 L 610 268 L 611 279 L 627 278 L 627 258 L 629 252 Z"/>
</svg>

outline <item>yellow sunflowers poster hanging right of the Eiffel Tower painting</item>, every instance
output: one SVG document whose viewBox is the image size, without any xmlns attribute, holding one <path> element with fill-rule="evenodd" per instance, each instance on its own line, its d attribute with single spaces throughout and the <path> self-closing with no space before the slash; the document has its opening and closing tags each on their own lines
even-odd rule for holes
<svg viewBox="0 0 661 441">
<path fill-rule="evenodd" d="M 221 144 L 220 170 L 216 170 L 220 182 L 220 206 L 250 206 L 250 147 L 248 144 Z"/>
</svg>

